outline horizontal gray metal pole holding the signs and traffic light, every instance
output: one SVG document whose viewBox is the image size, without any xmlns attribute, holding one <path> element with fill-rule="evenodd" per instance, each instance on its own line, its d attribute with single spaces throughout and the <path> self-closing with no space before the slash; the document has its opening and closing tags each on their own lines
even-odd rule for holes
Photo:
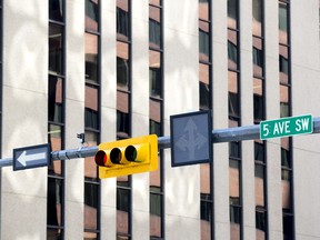
<svg viewBox="0 0 320 240">
<path fill-rule="evenodd" d="M 313 119 L 313 132 L 320 133 L 320 118 Z M 212 131 L 212 142 L 231 142 L 231 141 L 244 141 L 260 139 L 260 126 L 244 126 L 237 128 L 219 129 Z M 167 149 L 171 148 L 170 136 L 158 138 L 158 148 Z M 80 147 L 78 149 L 66 149 L 51 152 L 51 160 L 70 160 L 78 158 L 93 157 L 98 151 L 98 146 L 94 147 Z M 0 159 L 0 168 L 12 166 L 12 158 Z"/>
</svg>

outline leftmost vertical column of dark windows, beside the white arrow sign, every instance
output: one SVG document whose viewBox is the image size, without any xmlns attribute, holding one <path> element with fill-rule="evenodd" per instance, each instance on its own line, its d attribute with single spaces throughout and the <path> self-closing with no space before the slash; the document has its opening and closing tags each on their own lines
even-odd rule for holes
<svg viewBox="0 0 320 240">
<path fill-rule="evenodd" d="M 64 1 L 49 0 L 48 142 L 64 148 Z M 64 162 L 48 167 L 47 238 L 63 239 Z"/>
</svg>

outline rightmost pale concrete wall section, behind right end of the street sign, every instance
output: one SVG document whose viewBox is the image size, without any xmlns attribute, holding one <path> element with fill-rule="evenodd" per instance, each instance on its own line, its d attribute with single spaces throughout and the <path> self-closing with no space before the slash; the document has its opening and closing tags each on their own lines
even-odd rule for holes
<svg viewBox="0 0 320 240">
<path fill-rule="evenodd" d="M 292 114 L 320 112 L 319 1 L 291 1 Z M 297 239 L 320 238 L 320 136 L 293 139 L 293 182 Z"/>
</svg>

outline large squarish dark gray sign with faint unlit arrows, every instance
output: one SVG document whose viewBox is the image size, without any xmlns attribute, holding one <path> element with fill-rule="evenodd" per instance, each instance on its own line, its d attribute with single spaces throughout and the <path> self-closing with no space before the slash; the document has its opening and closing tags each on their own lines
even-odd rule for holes
<svg viewBox="0 0 320 240">
<path fill-rule="evenodd" d="M 171 166 L 211 162 L 211 111 L 170 117 Z"/>
</svg>

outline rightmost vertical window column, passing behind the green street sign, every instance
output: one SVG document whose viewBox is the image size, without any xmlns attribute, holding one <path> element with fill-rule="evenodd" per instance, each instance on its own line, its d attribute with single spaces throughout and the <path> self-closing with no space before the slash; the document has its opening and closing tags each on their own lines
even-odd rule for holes
<svg viewBox="0 0 320 240">
<path fill-rule="evenodd" d="M 280 117 L 291 116 L 290 0 L 279 0 Z M 283 239 L 294 240 L 292 139 L 281 139 Z"/>
</svg>

